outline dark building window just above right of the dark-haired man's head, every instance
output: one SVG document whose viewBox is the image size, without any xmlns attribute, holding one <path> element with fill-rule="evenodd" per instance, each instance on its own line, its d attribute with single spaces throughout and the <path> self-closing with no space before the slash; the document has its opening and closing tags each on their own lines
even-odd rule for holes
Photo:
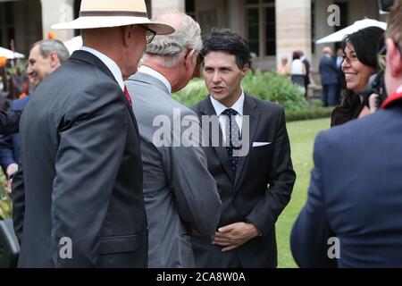
<svg viewBox="0 0 402 286">
<path fill-rule="evenodd" d="M 245 0 L 246 33 L 250 52 L 276 54 L 275 0 Z"/>
</svg>

